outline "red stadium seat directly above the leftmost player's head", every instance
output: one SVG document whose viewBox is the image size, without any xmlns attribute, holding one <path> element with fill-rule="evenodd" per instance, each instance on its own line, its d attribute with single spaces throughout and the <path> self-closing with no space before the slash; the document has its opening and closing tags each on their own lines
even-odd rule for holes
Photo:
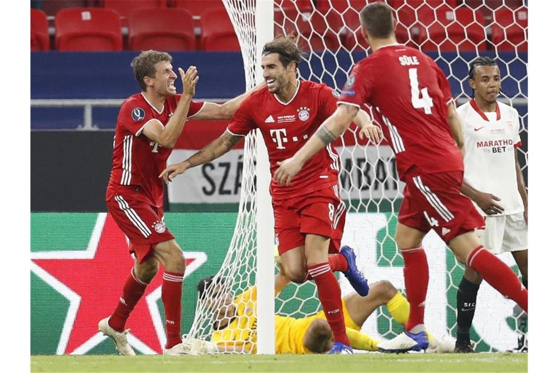
<svg viewBox="0 0 559 373">
<path fill-rule="evenodd" d="M 146 8 L 130 15 L 131 50 L 195 50 L 192 13 L 186 9 Z"/>
</svg>

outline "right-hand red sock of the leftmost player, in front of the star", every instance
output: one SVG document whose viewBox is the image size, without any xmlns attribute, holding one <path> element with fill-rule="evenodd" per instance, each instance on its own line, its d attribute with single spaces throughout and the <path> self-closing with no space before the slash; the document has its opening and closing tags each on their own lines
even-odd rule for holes
<svg viewBox="0 0 559 373">
<path fill-rule="evenodd" d="M 167 344 L 171 348 L 182 343 L 181 338 L 181 301 L 183 273 L 163 272 L 161 299 L 165 309 L 165 331 Z"/>
</svg>

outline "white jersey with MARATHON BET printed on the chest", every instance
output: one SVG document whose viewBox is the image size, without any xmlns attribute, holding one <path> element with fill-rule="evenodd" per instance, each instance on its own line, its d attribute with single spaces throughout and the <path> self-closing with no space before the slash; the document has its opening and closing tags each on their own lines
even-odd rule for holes
<svg viewBox="0 0 559 373">
<path fill-rule="evenodd" d="M 464 134 L 464 181 L 499 197 L 505 209 L 501 215 L 522 213 L 524 204 L 518 192 L 514 160 L 514 148 L 522 145 L 518 111 L 497 102 L 495 112 L 482 112 L 473 99 L 456 111 Z"/>
</svg>

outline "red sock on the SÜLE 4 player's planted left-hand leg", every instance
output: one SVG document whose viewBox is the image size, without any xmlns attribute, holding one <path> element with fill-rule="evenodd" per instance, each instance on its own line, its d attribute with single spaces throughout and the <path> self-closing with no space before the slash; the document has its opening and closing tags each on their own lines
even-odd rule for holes
<svg viewBox="0 0 559 373">
<path fill-rule="evenodd" d="M 416 325 L 423 325 L 425 311 L 425 297 L 429 284 L 429 266 L 423 246 L 410 249 L 400 249 L 404 257 L 404 282 L 406 298 L 410 303 L 410 317 L 406 323 L 406 330 Z"/>
</svg>

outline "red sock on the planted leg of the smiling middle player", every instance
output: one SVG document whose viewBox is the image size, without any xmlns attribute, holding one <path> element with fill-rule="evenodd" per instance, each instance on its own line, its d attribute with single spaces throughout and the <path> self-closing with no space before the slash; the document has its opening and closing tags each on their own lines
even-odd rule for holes
<svg viewBox="0 0 559 373">
<path fill-rule="evenodd" d="M 347 267 L 347 261 L 345 265 Z M 345 333 L 342 291 L 334 272 L 331 271 L 328 263 L 319 263 L 309 267 L 309 275 L 315 281 L 318 299 L 334 334 L 334 341 L 349 346 L 349 339 Z"/>
</svg>

